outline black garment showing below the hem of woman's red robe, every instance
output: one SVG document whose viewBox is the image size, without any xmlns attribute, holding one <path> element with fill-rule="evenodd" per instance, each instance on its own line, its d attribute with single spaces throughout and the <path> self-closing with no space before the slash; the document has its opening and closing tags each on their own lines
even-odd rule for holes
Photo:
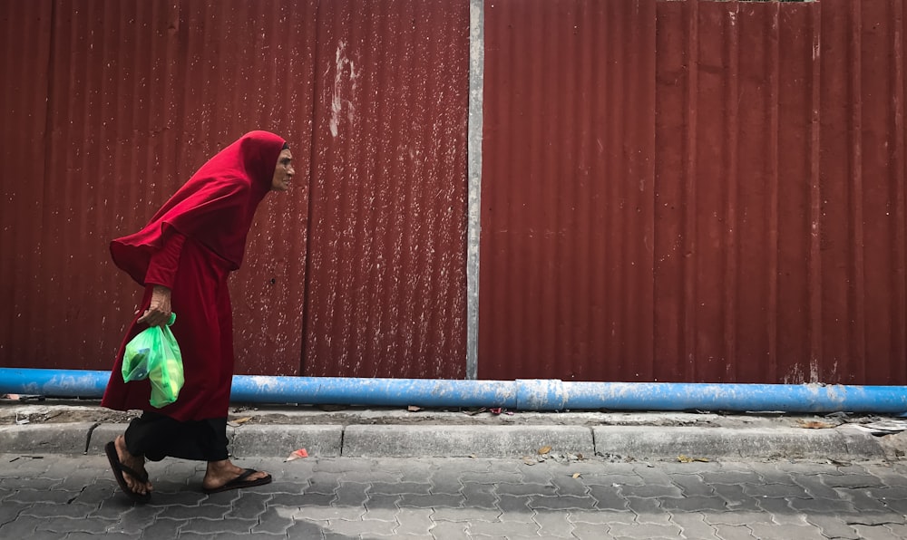
<svg viewBox="0 0 907 540">
<path fill-rule="evenodd" d="M 226 417 L 180 422 L 146 410 L 129 423 L 124 437 L 130 454 L 151 461 L 168 457 L 220 461 L 229 457 Z"/>
</svg>

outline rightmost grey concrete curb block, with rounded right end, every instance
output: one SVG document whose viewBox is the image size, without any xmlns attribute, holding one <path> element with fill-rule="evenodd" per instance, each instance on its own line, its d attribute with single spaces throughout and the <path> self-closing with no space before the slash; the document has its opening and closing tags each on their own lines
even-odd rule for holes
<svg viewBox="0 0 907 540">
<path fill-rule="evenodd" d="M 797 428 L 592 428 L 600 456 L 637 459 L 789 458 L 879 459 L 885 457 L 872 435 L 856 429 Z"/>
</svg>

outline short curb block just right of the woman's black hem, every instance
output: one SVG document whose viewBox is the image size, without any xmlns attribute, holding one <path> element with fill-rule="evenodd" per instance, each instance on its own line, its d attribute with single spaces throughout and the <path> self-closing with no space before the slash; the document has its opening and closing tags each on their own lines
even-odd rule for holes
<svg viewBox="0 0 907 540">
<path fill-rule="evenodd" d="M 338 458 L 344 429 L 340 425 L 252 425 L 227 428 L 229 451 L 237 458 L 286 458 L 299 448 L 311 456 Z"/>
</svg>

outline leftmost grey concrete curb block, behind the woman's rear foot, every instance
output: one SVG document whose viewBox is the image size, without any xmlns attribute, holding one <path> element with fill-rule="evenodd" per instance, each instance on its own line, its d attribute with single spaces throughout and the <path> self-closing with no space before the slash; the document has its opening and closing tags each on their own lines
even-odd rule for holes
<svg viewBox="0 0 907 540">
<path fill-rule="evenodd" d="M 7 454 L 84 454 L 93 422 L 0 426 L 0 452 Z"/>
</svg>

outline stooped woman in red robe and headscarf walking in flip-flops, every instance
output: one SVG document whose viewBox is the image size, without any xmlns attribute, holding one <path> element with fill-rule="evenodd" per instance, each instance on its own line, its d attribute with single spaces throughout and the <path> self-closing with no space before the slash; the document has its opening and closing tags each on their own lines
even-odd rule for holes
<svg viewBox="0 0 907 540">
<path fill-rule="evenodd" d="M 208 462 L 207 493 L 267 484 L 264 471 L 234 465 L 227 452 L 233 377 L 233 323 L 227 277 L 239 268 L 258 203 L 286 191 L 295 171 L 285 140 L 251 131 L 205 163 L 141 231 L 111 243 L 113 262 L 144 287 L 141 307 L 120 347 L 102 406 L 142 410 L 105 451 L 122 490 L 146 502 L 152 485 L 145 459 Z M 144 328 L 178 319 L 185 383 L 161 409 L 149 403 L 149 381 L 122 380 L 127 342 Z"/>
</svg>

